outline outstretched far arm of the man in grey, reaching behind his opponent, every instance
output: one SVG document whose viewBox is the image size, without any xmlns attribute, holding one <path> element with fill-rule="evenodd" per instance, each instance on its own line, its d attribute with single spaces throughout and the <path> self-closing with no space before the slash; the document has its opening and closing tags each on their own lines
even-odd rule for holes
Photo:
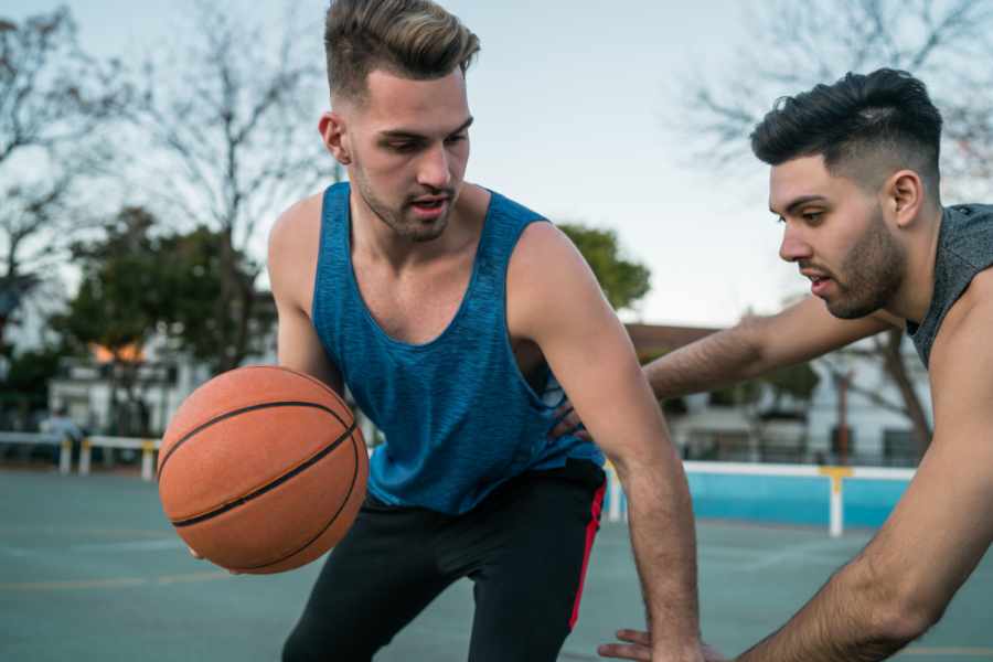
<svg viewBox="0 0 993 662">
<path fill-rule="evenodd" d="M 897 325 L 883 312 L 858 320 L 832 316 L 808 297 L 769 317 L 749 317 L 644 366 L 659 399 L 714 391 L 766 372 L 809 361 Z"/>
</svg>

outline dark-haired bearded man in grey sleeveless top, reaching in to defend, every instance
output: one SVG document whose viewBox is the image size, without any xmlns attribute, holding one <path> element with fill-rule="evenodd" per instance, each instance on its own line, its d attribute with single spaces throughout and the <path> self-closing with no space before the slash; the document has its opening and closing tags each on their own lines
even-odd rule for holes
<svg viewBox="0 0 993 662">
<path fill-rule="evenodd" d="M 942 206 L 940 136 L 925 85 L 904 72 L 848 74 L 778 103 L 752 149 L 772 167 L 780 256 L 813 296 L 645 366 L 662 399 L 903 325 L 929 366 L 933 437 L 899 504 L 743 662 L 883 660 L 938 621 L 993 542 L 993 206 Z M 618 637 L 627 643 L 602 654 L 649 659 L 648 633 Z"/>
</svg>

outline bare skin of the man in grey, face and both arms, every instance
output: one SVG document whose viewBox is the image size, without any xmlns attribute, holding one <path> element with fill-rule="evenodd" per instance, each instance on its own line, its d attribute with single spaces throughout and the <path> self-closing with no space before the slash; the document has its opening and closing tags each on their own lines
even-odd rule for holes
<svg viewBox="0 0 993 662">
<path fill-rule="evenodd" d="M 820 157 L 807 157 L 772 169 L 770 194 L 770 207 L 784 222 L 780 256 L 808 276 L 833 281 L 779 314 L 745 320 L 653 362 L 645 373 L 658 397 L 754 377 L 926 316 L 941 210 L 916 172 L 896 171 L 867 192 L 832 177 Z M 882 242 L 878 222 L 888 235 Z M 878 265 L 851 257 L 867 246 L 901 256 L 895 284 L 869 286 Z M 835 317 L 874 297 L 882 300 L 879 310 Z M 993 543 L 991 324 L 993 270 L 986 270 L 951 308 L 932 348 L 935 435 L 907 492 L 862 553 L 780 630 L 736 660 L 883 660 L 940 619 Z M 602 655 L 653 659 L 649 633 L 621 630 L 617 637 L 624 643 L 601 647 Z"/>
</svg>

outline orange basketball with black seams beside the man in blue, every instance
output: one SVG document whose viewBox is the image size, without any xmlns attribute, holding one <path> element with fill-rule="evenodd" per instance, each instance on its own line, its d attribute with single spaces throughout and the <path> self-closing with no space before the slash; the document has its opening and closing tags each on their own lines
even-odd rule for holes
<svg viewBox="0 0 993 662">
<path fill-rule="evenodd" d="M 271 365 L 200 386 L 159 450 L 159 498 L 177 533 L 238 573 L 280 573 L 324 554 L 352 525 L 367 476 L 362 433 L 338 394 Z"/>
</svg>

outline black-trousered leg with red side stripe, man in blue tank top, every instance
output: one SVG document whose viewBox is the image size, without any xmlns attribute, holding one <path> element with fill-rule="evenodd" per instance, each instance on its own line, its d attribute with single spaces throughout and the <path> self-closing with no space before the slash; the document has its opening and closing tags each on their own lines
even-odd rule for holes
<svg viewBox="0 0 993 662">
<path fill-rule="evenodd" d="M 501 544 L 470 577 L 476 617 L 471 662 L 554 662 L 579 610 L 599 528 L 602 470 L 591 462 L 517 479 L 485 526 Z"/>
</svg>

